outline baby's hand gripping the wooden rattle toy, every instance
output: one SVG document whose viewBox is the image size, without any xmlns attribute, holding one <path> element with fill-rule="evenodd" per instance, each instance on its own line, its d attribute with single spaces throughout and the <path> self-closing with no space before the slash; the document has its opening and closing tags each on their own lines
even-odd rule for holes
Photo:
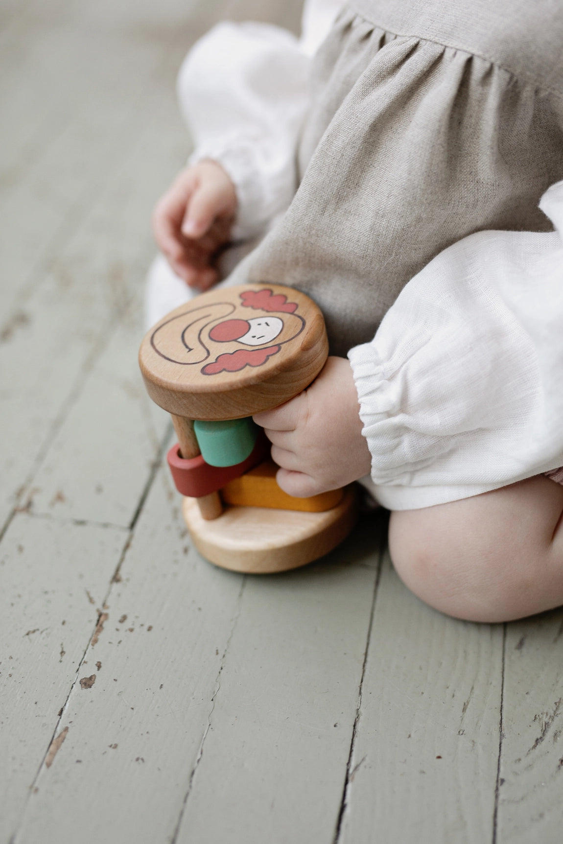
<svg viewBox="0 0 563 844">
<path fill-rule="evenodd" d="M 306 498 L 370 473 L 359 412 L 352 367 L 345 358 L 331 357 L 311 387 L 253 417 L 272 442 L 282 490 Z"/>
</svg>

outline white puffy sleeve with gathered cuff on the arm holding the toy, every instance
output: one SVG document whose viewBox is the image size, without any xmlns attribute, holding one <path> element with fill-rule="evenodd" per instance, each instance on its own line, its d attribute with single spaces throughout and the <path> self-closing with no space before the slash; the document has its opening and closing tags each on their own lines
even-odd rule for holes
<svg viewBox="0 0 563 844">
<path fill-rule="evenodd" d="M 554 233 L 458 241 L 349 352 L 374 492 L 391 510 L 563 465 L 563 181 L 539 207 Z"/>
</svg>

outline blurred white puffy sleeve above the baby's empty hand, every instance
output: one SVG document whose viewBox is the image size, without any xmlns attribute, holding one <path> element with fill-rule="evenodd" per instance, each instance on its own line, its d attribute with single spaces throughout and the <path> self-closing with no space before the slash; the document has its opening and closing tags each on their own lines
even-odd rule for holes
<svg viewBox="0 0 563 844">
<path fill-rule="evenodd" d="M 218 24 L 181 66 L 178 99 L 195 143 L 190 163 L 214 159 L 229 173 L 236 238 L 263 233 L 290 205 L 311 56 L 341 2 L 308 0 L 300 40 L 269 24 Z"/>
</svg>

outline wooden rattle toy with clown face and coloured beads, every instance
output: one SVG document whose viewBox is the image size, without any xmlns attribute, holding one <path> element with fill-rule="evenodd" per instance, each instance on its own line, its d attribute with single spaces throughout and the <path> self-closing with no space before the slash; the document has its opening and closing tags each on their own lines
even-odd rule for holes
<svg viewBox="0 0 563 844">
<path fill-rule="evenodd" d="M 279 489 L 252 414 L 309 386 L 328 356 L 322 313 L 279 284 L 214 289 L 171 311 L 139 350 L 149 396 L 167 410 L 168 452 L 198 550 L 234 571 L 285 571 L 316 560 L 355 523 L 352 487 L 311 498 Z"/>
</svg>

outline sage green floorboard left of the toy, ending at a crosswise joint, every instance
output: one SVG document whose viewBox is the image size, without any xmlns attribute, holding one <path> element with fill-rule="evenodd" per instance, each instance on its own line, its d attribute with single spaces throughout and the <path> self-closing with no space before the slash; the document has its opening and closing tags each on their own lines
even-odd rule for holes
<svg viewBox="0 0 563 844">
<path fill-rule="evenodd" d="M 131 349 L 139 320 L 120 324 L 69 409 L 33 481 L 33 513 L 127 527 L 170 417 L 150 401 Z"/>
</svg>

